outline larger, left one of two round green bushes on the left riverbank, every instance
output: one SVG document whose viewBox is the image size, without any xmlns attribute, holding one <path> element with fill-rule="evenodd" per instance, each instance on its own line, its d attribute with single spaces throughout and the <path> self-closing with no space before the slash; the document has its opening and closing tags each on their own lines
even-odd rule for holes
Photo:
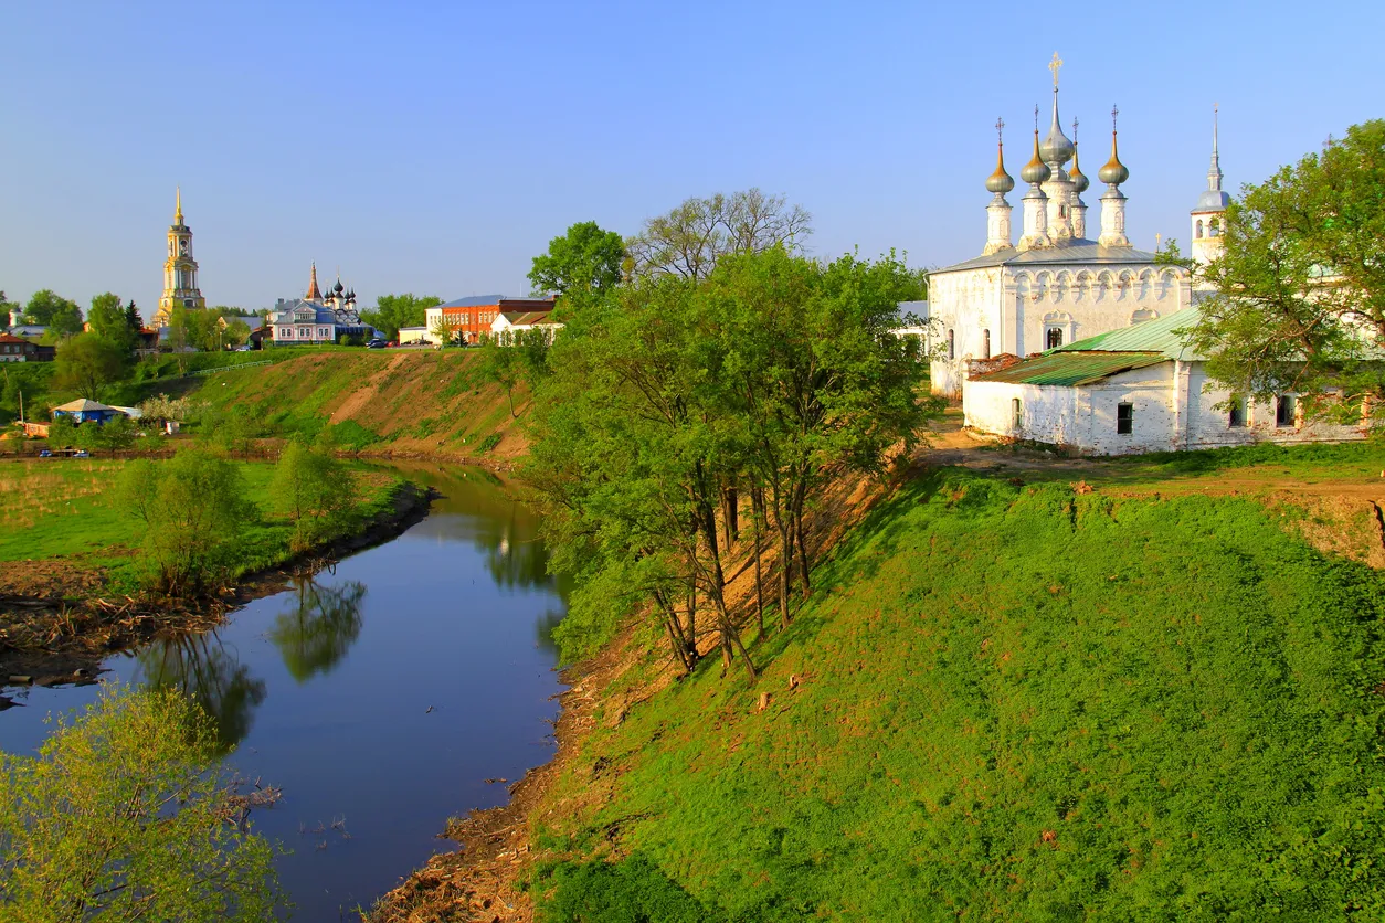
<svg viewBox="0 0 1385 923">
<path fill-rule="evenodd" d="M 116 495 L 144 526 L 147 585 L 170 596 L 195 598 L 229 578 L 241 534 L 258 518 L 240 468 L 198 448 L 126 465 Z"/>
</svg>

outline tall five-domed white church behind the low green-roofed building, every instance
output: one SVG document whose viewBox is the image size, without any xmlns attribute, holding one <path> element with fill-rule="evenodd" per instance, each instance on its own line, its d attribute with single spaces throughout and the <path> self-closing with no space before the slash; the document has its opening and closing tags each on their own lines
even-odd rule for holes
<svg viewBox="0 0 1385 923">
<path fill-rule="evenodd" d="M 1176 314 L 1192 302 L 1191 274 L 1161 263 L 1155 253 L 1136 249 L 1125 232 L 1126 197 L 1120 185 L 1130 172 L 1116 149 L 1112 109 L 1111 158 L 1097 172 L 1107 185 L 1101 194 L 1100 226 L 1089 237 L 1087 203 L 1082 194 L 1090 180 L 1078 163 L 1078 144 L 1058 119 L 1060 61 L 1054 55 L 1053 120 L 1040 141 L 1037 118 L 1033 155 L 1019 172 L 1029 185 L 1022 199 L 1018 242 L 1011 231 L 1015 188 L 1006 172 L 1003 138 L 996 170 L 986 180 L 993 194 L 986 206 L 986 244 L 981 256 L 935 270 L 928 277 L 933 318 L 932 390 L 963 397 L 968 364 L 1008 354 L 1032 356 L 1107 331 Z M 1036 112 L 1037 116 L 1037 112 Z M 1004 123 L 997 122 L 997 131 Z M 1073 137 L 1078 123 L 1073 122 Z M 1068 163 L 1072 163 L 1071 169 Z M 1213 167 L 1216 152 L 1213 148 Z M 1220 169 L 1216 169 L 1220 191 Z M 1206 231 L 1224 210 L 1224 194 L 1199 199 L 1194 227 Z M 1206 232 L 1197 235 L 1194 256 L 1210 252 Z M 1219 244 L 1219 241 L 1217 241 Z"/>
</svg>

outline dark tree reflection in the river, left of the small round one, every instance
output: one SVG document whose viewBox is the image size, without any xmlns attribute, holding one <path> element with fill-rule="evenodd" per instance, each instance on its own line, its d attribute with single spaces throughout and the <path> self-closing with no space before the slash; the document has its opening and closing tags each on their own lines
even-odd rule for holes
<svg viewBox="0 0 1385 923">
<path fill-rule="evenodd" d="M 215 725 L 220 753 L 249 733 L 255 709 L 265 702 L 265 681 L 252 677 L 215 631 L 157 641 L 137 657 L 147 685 L 179 689 L 201 706 Z"/>
</svg>

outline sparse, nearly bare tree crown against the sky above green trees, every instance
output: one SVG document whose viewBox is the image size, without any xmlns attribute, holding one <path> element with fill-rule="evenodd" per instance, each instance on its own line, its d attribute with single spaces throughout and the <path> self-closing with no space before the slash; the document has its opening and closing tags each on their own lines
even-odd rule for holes
<svg viewBox="0 0 1385 923">
<path fill-rule="evenodd" d="M 783 195 L 758 188 L 699 199 L 690 198 L 668 214 L 650 219 L 626 241 L 633 275 L 676 275 L 698 281 L 734 253 L 760 253 L 781 246 L 802 250 L 813 232 L 813 216 Z"/>
</svg>

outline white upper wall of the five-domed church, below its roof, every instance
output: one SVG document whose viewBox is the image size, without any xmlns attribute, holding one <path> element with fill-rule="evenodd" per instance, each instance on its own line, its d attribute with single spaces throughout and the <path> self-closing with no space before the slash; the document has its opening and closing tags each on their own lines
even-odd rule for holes
<svg viewBox="0 0 1385 923">
<path fill-rule="evenodd" d="M 967 361 L 985 358 L 988 329 L 992 356 L 1025 357 L 1048 349 L 1050 329 L 1068 345 L 1183 310 L 1192 289 L 1187 273 L 1170 266 L 1040 264 L 935 273 L 928 303 L 939 338 L 931 345 L 932 392 L 961 397 Z"/>
</svg>

